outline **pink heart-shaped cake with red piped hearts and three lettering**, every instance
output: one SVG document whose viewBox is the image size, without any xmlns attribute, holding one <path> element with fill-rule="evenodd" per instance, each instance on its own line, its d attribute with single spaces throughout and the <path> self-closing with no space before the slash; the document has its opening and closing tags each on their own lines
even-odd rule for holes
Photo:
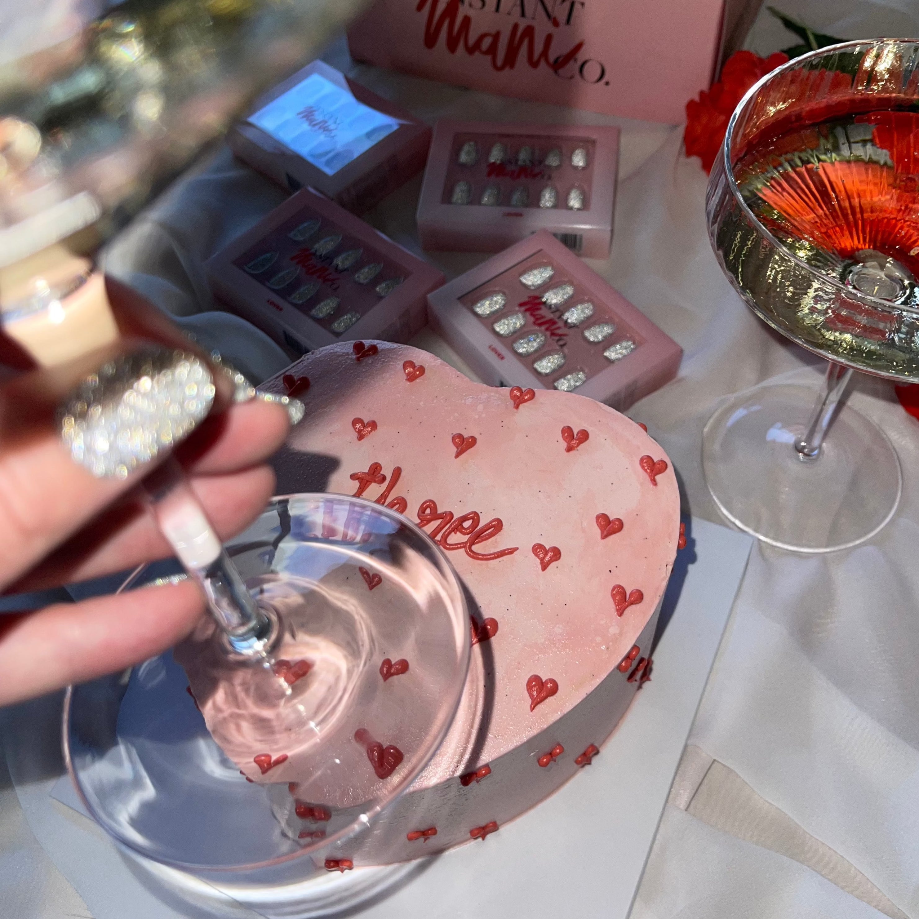
<svg viewBox="0 0 919 919">
<path fill-rule="evenodd" d="M 328 346 L 286 371 L 311 383 L 301 395 L 305 417 L 275 461 L 278 494 L 359 494 L 403 513 L 448 550 L 475 605 L 470 673 L 447 739 L 384 821 L 328 848 L 359 865 L 418 857 L 408 838 L 418 827 L 437 830 L 425 854 L 482 838 L 596 754 L 650 679 L 679 496 L 661 448 L 606 405 L 482 386 L 407 346 L 364 343 L 356 354 L 351 343 Z M 282 377 L 264 388 L 283 392 Z M 361 419 L 376 423 L 372 436 L 355 436 Z M 653 458 L 650 468 L 643 458 Z M 390 589 L 376 572 L 358 576 L 375 598 Z M 398 643 L 386 652 L 379 691 L 414 698 L 423 655 Z M 411 669 L 386 682 L 403 658 Z M 639 661 L 647 662 L 641 672 Z M 202 709 L 215 723 L 208 702 Z M 370 778 L 389 775 L 411 749 L 401 731 L 393 723 L 374 724 L 373 737 L 361 733 Z M 215 739 L 221 743 L 219 733 Z M 547 751 L 562 752 L 540 768 Z M 287 786 L 311 780 L 296 751 L 264 777 L 251 755 L 228 753 L 267 785 L 286 834 L 311 829 Z M 332 834 L 347 802 L 330 800 L 331 789 L 303 793 L 331 808 Z"/>
</svg>

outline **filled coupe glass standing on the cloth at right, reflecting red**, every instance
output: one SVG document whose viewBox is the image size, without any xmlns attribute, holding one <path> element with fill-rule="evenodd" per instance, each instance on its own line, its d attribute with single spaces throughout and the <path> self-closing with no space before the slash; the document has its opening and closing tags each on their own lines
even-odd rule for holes
<svg viewBox="0 0 919 919">
<path fill-rule="evenodd" d="M 846 386 L 853 370 L 919 381 L 919 42 L 845 42 L 767 74 L 733 113 L 706 213 L 747 306 L 830 361 L 819 392 L 764 384 L 720 406 L 709 491 L 772 545 L 855 546 L 893 516 L 902 473 Z"/>
</svg>

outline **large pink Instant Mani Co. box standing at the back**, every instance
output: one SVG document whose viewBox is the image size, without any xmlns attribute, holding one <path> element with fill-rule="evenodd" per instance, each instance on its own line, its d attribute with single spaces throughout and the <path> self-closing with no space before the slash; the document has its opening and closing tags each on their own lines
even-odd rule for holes
<svg viewBox="0 0 919 919">
<path fill-rule="evenodd" d="M 761 0 L 374 0 L 357 61 L 607 115 L 684 120 Z"/>
</svg>

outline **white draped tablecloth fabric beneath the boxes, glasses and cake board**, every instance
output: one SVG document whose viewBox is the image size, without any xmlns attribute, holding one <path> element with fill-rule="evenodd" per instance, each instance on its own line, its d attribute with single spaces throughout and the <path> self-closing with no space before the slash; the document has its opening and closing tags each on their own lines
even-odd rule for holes
<svg viewBox="0 0 919 919">
<path fill-rule="evenodd" d="M 915 0 L 786 0 L 782 7 L 843 38 L 919 36 Z M 794 41 L 764 12 L 748 46 L 767 53 Z M 684 347 L 679 379 L 630 414 L 674 460 L 684 509 L 718 520 L 699 444 L 719 399 L 779 374 L 816 381 L 821 369 L 755 320 L 722 277 L 705 232 L 706 176 L 697 160 L 683 157 L 681 130 L 356 66 L 342 41 L 325 59 L 430 121 L 590 121 L 623 129 L 613 252 L 589 264 Z M 367 220 L 420 254 L 419 186 L 410 183 Z M 284 197 L 219 153 L 122 235 L 108 270 L 177 315 L 211 310 L 203 260 Z M 425 257 L 454 277 L 487 256 Z M 462 369 L 430 333 L 416 344 Z M 754 549 L 636 919 L 919 917 L 919 423 L 886 384 L 858 380 L 851 402 L 899 452 L 900 510 L 855 550 L 807 558 Z M 8 793 L 0 795 L 0 814 L 0 896 L 6 891 L 6 902 L 17 904 L 9 914 L 88 915 L 29 841 Z"/>
</svg>

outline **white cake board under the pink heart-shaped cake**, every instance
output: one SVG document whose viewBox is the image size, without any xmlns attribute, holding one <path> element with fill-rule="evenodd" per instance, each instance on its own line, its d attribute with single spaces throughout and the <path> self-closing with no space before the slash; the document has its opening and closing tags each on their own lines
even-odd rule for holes
<svg viewBox="0 0 919 919">
<path fill-rule="evenodd" d="M 752 545 L 744 534 L 703 520 L 692 520 L 687 529 L 689 546 L 680 553 L 664 599 L 652 682 L 593 764 L 486 840 L 414 863 L 360 916 L 505 919 L 547 911 L 628 916 Z M 94 919 L 204 914 L 200 907 L 156 899 L 155 881 L 120 857 L 99 828 L 52 803 L 55 798 L 79 810 L 69 777 L 18 786 L 17 793 L 32 832 Z M 388 869 L 329 876 L 328 893 L 339 884 L 367 883 L 380 870 Z M 301 914 L 290 902 L 269 909 L 250 901 L 255 909 L 246 908 L 246 898 L 239 891 L 234 895 L 238 906 L 215 896 L 214 914 L 241 919 Z"/>
</svg>

